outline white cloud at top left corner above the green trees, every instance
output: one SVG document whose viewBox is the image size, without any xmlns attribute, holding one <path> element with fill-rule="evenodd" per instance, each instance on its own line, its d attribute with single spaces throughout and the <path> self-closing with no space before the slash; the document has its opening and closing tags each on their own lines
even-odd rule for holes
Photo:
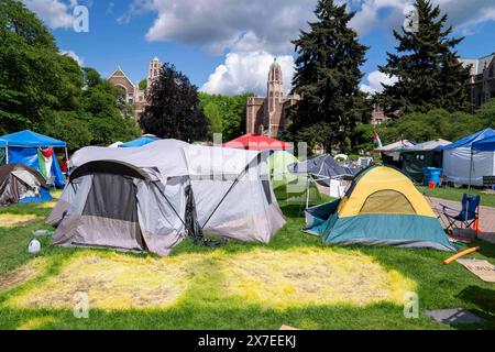
<svg viewBox="0 0 495 352">
<path fill-rule="evenodd" d="M 23 2 L 52 29 L 73 26 L 73 9 L 77 6 L 77 0 L 23 0 Z"/>
</svg>

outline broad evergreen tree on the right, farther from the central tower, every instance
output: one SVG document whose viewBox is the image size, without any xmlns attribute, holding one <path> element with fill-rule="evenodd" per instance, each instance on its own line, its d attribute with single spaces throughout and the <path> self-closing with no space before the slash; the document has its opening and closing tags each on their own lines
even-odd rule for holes
<svg viewBox="0 0 495 352">
<path fill-rule="evenodd" d="M 469 109 L 469 68 L 459 62 L 454 47 L 463 40 L 452 37 L 452 26 L 446 28 L 447 14 L 429 0 L 416 0 L 418 26 L 394 31 L 398 41 L 397 54 L 387 53 L 388 59 L 380 70 L 395 76 L 393 86 L 384 85 L 377 98 L 389 117 L 407 112 L 427 112 L 435 108 L 449 111 Z"/>
</svg>

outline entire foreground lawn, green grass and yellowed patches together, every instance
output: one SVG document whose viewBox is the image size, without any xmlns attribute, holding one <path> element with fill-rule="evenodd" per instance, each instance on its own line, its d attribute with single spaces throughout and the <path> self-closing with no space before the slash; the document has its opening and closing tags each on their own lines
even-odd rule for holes
<svg viewBox="0 0 495 352">
<path fill-rule="evenodd" d="M 458 263 L 442 265 L 449 253 L 323 248 L 300 231 L 298 205 L 280 205 L 287 224 L 268 245 L 185 240 L 157 257 L 42 239 L 32 256 L 31 233 L 47 229 L 52 205 L 0 209 L 0 329 L 447 329 L 422 311 L 458 307 L 486 319 L 458 328 L 495 328 L 494 285 Z M 473 256 L 495 263 L 495 246 L 476 244 Z M 418 294 L 417 319 L 404 317 L 405 290 Z M 88 294 L 88 319 L 74 317 L 77 292 Z"/>
</svg>

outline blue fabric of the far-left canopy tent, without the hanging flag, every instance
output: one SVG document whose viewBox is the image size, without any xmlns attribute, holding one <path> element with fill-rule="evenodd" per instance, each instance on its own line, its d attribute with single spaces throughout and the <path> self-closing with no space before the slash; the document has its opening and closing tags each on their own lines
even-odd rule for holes
<svg viewBox="0 0 495 352">
<path fill-rule="evenodd" d="M 41 172 L 38 150 L 47 147 L 63 147 L 66 158 L 68 157 L 67 143 L 29 130 L 2 135 L 0 141 L 7 143 L 6 164 L 24 164 Z M 56 161 L 55 152 L 52 156 L 51 168 L 46 173 L 55 177 L 55 187 L 62 188 L 65 186 L 64 175 Z"/>
</svg>

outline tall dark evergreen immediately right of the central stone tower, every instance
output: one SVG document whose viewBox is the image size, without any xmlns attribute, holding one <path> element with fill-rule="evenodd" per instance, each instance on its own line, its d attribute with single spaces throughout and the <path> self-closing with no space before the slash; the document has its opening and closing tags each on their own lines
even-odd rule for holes
<svg viewBox="0 0 495 352">
<path fill-rule="evenodd" d="M 308 32 L 293 41 L 297 52 L 293 89 L 302 96 L 290 113 L 289 133 L 309 146 L 349 151 L 354 129 L 366 121 L 370 108 L 360 91 L 360 66 L 367 47 L 349 26 L 354 12 L 333 0 L 319 0 Z"/>
</svg>

